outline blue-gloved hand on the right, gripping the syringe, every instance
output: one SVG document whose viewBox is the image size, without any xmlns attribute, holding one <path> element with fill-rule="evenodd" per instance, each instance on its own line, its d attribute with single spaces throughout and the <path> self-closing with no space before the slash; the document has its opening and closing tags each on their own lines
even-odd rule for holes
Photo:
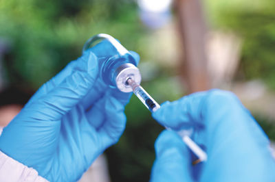
<svg viewBox="0 0 275 182">
<path fill-rule="evenodd" d="M 162 125 L 178 131 L 192 127 L 192 139 L 205 146 L 208 160 L 192 166 L 192 155 L 173 131 L 155 142 L 151 181 L 274 181 L 269 140 L 239 99 L 210 90 L 166 102 L 153 113 Z"/>
</svg>

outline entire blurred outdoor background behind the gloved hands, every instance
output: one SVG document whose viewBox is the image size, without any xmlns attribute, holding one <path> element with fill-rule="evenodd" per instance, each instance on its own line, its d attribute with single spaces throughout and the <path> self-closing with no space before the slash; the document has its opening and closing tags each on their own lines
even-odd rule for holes
<svg viewBox="0 0 275 182">
<path fill-rule="evenodd" d="M 142 86 L 159 103 L 231 90 L 275 141 L 274 0 L 1 0 L 0 114 L 23 105 L 99 33 L 140 54 Z M 163 128 L 135 96 L 126 116 L 122 138 L 105 152 L 109 178 L 148 181 Z"/>
</svg>

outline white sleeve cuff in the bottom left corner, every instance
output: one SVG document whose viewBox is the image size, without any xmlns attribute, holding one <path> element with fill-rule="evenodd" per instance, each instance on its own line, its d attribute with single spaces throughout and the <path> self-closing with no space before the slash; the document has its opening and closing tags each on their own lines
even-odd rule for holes
<svg viewBox="0 0 275 182">
<path fill-rule="evenodd" d="M 0 181 L 47 181 L 39 176 L 39 173 L 33 168 L 28 168 L 19 161 L 8 157 L 0 151 Z"/>
</svg>

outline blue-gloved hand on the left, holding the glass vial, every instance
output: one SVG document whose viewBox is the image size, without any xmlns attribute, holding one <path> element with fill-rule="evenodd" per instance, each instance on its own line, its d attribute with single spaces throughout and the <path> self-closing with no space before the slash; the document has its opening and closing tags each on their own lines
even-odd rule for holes
<svg viewBox="0 0 275 182">
<path fill-rule="evenodd" d="M 98 59 L 113 51 L 103 41 L 45 83 L 3 129 L 1 151 L 47 180 L 78 180 L 126 125 L 131 94 L 98 79 Z"/>
</svg>

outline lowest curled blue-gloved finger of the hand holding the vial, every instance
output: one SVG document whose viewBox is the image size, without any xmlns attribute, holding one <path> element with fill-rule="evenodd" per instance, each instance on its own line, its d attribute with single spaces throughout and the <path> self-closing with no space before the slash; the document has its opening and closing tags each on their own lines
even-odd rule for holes
<svg viewBox="0 0 275 182">
<path fill-rule="evenodd" d="M 103 150 L 111 144 L 118 142 L 126 125 L 124 105 L 120 103 L 118 99 L 113 98 L 113 96 L 107 97 L 104 105 L 104 114 L 104 122 L 98 129 L 100 141 L 104 144 L 104 146 L 102 146 Z"/>
</svg>

